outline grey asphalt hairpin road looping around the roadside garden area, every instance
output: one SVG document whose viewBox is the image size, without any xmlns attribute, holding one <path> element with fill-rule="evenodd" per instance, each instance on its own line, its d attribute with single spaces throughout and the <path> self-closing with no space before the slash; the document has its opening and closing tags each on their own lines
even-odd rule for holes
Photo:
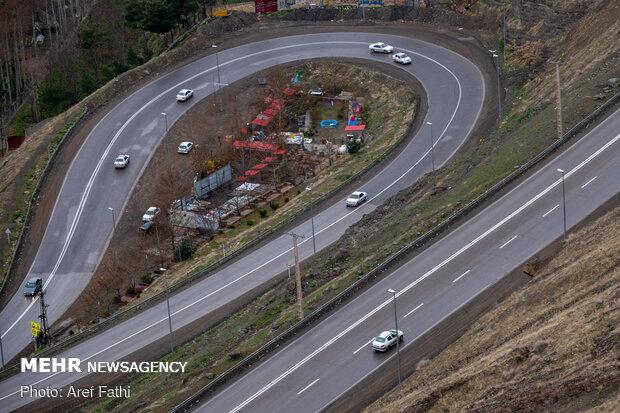
<svg viewBox="0 0 620 413">
<path fill-rule="evenodd" d="M 428 97 L 425 122 L 433 124 L 436 166 L 444 164 L 466 140 L 482 109 L 485 86 L 478 68 L 462 56 L 419 40 L 367 33 L 328 33 L 291 36 L 246 44 L 219 52 L 221 82 L 231 83 L 267 67 L 309 58 L 363 58 L 394 65 L 390 56 L 370 54 L 374 41 L 406 51 L 413 64 L 402 67 L 423 85 Z M 46 286 L 50 321 L 56 320 L 79 296 L 92 276 L 111 237 L 115 222 L 108 207 L 123 210 L 149 157 L 164 135 L 164 118 L 175 122 L 192 104 L 212 93 L 216 57 L 210 55 L 173 71 L 133 93 L 113 108 L 93 129 L 65 178 L 41 247 L 28 276 L 39 275 Z M 194 89 L 196 98 L 178 104 L 181 88 Z M 431 135 L 422 128 L 388 165 L 360 190 L 369 201 L 347 209 L 336 200 L 315 216 L 317 249 L 337 240 L 348 226 L 380 205 L 387 197 L 413 184 L 429 171 Z M 116 154 L 129 153 L 126 170 L 114 170 Z M 305 236 L 302 258 L 312 251 L 310 222 L 293 229 Z M 225 266 L 192 288 L 171 297 L 173 329 L 179 329 L 216 311 L 231 300 L 282 273 L 292 262 L 291 240 L 282 235 L 251 254 Z M 36 320 L 36 301 L 17 294 L 0 313 L 5 357 L 11 358 L 29 342 L 28 322 Z M 165 337 L 165 303 L 137 314 L 84 342 L 60 357 L 82 361 L 123 358 Z M 61 387 L 83 374 L 18 374 L 0 383 L 0 406 L 12 410 L 29 402 L 20 398 L 20 385 Z"/>
</svg>

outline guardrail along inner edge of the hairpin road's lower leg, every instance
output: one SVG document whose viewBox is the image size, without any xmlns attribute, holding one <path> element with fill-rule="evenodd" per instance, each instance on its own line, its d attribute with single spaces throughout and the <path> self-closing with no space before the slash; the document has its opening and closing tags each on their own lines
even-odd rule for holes
<svg viewBox="0 0 620 413">
<path fill-rule="evenodd" d="M 414 98 L 414 102 L 416 105 L 416 110 L 418 110 L 420 108 L 420 97 L 415 95 Z M 415 117 L 417 118 L 417 116 L 419 115 L 419 112 L 416 111 Z M 414 121 L 411 123 L 411 125 L 409 125 L 409 128 L 407 129 L 407 131 L 387 150 L 385 150 L 381 155 L 379 155 L 373 162 L 369 163 L 368 165 L 366 165 L 361 171 L 359 171 L 358 173 L 350 176 L 347 180 L 343 181 L 340 185 L 338 185 L 337 187 L 333 188 L 332 190 L 326 192 L 325 194 L 323 194 L 322 196 L 320 196 L 319 198 L 314 200 L 314 208 L 316 209 L 319 205 L 321 205 L 323 202 L 325 202 L 326 200 L 330 199 L 334 194 L 338 193 L 339 191 L 341 191 L 346 185 L 360 179 L 362 176 L 364 176 L 366 173 L 368 173 L 371 169 L 373 169 L 375 166 L 377 166 L 378 164 L 380 164 L 381 162 L 383 162 L 385 159 L 387 159 L 389 156 L 391 156 L 396 148 L 398 148 L 400 145 L 402 145 L 407 138 L 409 137 L 410 133 L 411 133 L 411 128 L 412 126 L 416 123 L 416 119 L 414 118 Z M 280 221 L 279 223 L 277 223 L 276 225 L 270 227 L 269 229 L 266 229 L 262 232 L 260 232 L 259 234 L 257 234 L 257 236 L 255 238 L 253 238 L 252 240 L 250 240 L 249 242 L 243 244 L 241 247 L 239 247 L 237 250 L 232 251 L 231 253 L 227 254 L 226 257 L 223 257 L 217 261 L 215 261 L 214 263 L 210 264 L 209 266 L 207 266 L 207 268 L 202 269 L 200 271 L 197 271 L 195 273 L 190 273 L 190 275 L 188 275 L 187 277 L 185 277 L 182 280 L 177 281 L 176 283 L 170 285 L 169 287 L 169 292 L 173 293 L 176 291 L 181 290 L 182 288 L 185 288 L 187 285 L 195 282 L 196 280 L 202 279 L 204 277 L 207 277 L 208 275 L 210 275 L 211 273 L 213 273 L 214 271 L 218 270 L 220 267 L 222 267 L 224 264 L 230 262 L 233 259 L 236 259 L 237 257 L 239 257 L 240 255 L 246 253 L 247 251 L 251 250 L 252 248 L 258 246 L 259 244 L 261 244 L 263 241 L 265 241 L 266 239 L 268 239 L 269 237 L 273 236 L 274 234 L 278 233 L 279 231 L 282 231 L 284 228 L 286 228 L 288 225 L 293 224 L 297 219 L 299 219 L 300 217 L 302 217 L 304 214 L 310 212 L 310 204 L 306 205 L 303 209 L 301 209 L 300 211 L 290 215 L 289 217 L 287 217 L 286 219 Z M 139 304 L 136 304 L 130 308 L 124 309 L 122 311 L 117 312 L 116 314 L 110 316 L 109 318 L 102 320 L 100 322 L 98 322 L 97 324 L 81 331 L 78 334 L 75 334 L 59 343 L 56 343 L 54 345 L 49 346 L 46 349 L 43 349 L 39 352 L 37 352 L 37 357 L 50 357 L 53 354 L 57 354 L 60 351 L 63 351 L 64 349 L 73 346 L 83 340 L 86 340 L 87 338 L 91 337 L 92 335 L 94 335 L 95 333 L 98 333 L 100 331 L 104 331 L 108 328 L 113 327 L 114 325 L 116 325 L 117 323 L 120 323 L 128 318 L 130 318 L 132 315 L 142 311 L 142 310 L 146 310 L 148 307 L 151 307 L 157 303 L 162 302 L 163 300 L 165 300 L 166 298 L 166 291 L 161 291 L 155 295 L 153 295 L 152 297 L 149 297 L 147 299 L 145 299 L 144 301 L 142 301 Z M 17 367 L 19 366 L 19 364 L 14 363 L 13 365 L 9 365 L 7 366 L 2 372 L 0 372 L 0 380 L 15 374 L 18 372 Z"/>
</svg>

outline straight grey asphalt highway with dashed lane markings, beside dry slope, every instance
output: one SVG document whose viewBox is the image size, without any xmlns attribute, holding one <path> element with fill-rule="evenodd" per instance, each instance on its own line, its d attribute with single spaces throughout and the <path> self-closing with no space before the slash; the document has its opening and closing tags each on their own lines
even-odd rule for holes
<svg viewBox="0 0 620 413">
<path fill-rule="evenodd" d="M 316 412 L 371 372 L 394 363 L 395 348 L 376 354 L 370 347 L 373 336 L 394 328 L 387 290 L 397 291 L 401 351 L 406 352 L 417 337 L 562 236 L 558 168 L 565 171 L 569 228 L 620 192 L 619 131 L 616 111 L 508 194 L 196 411 Z"/>
</svg>

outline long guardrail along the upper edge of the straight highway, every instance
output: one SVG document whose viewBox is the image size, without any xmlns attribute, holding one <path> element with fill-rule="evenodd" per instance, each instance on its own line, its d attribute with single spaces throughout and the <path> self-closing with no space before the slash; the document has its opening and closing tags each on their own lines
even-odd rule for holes
<svg viewBox="0 0 620 413">
<path fill-rule="evenodd" d="M 346 302 L 351 297 L 355 295 L 359 290 L 366 288 L 373 281 L 378 279 L 381 275 L 385 274 L 391 266 L 402 259 L 404 256 L 414 252 L 417 248 L 422 247 L 428 241 L 432 240 L 436 236 L 440 235 L 449 228 L 451 225 L 457 223 L 461 219 L 465 218 L 472 211 L 474 211 L 478 206 L 480 206 L 483 202 L 486 202 L 497 195 L 501 190 L 506 188 L 508 185 L 513 183 L 516 179 L 521 177 L 523 174 L 531 170 L 535 165 L 540 163 L 542 160 L 546 159 L 552 153 L 554 153 L 559 147 L 564 145 L 566 142 L 575 137 L 580 131 L 582 131 L 589 123 L 597 119 L 602 113 L 604 113 L 609 108 L 613 107 L 616 103 L 620 101 L 620 93 L 616 93 L 613 97 L 607 100 L 603 105 L 601 105 L 598 109 L 590 113 L 584 119 L 579 121 L 575 126 L 573 126 L 569 131 L 567 131 L 562 137 L 556 140 L 554 143 L 545 148 L 542 152 L 536 155 L 534 158 L 530 159 L 528 162 L 523 164 L 521 167 L 511 172 L 509 175 L 501 179 L 491 188 L 486 190 L 483 194 L 472 200 L 469 204 L 461 208 L 459 211 L 455 212 L 453 215 L 448 217 L 446 220 L 441 222 L 439 225 L 428 231 L 426 234 L 418 237 L 413 242 L 405 245 L 390 257 L 388 257 L 385 261 L 381 262 L 375 268 L 370 270 L 364 277 L 360 278 L 351 286 L 347 287 L 344 291 L 338 294 L 336 297 L 332 298 L 327 303 L 323 304 L 321 307 L 314 310 L 311 314 L 306 316 L 304 319 L 300 320 L 297 324 L 284 331 L 282 334 L 277 337 L 271 339 L 269 342 L 265 343 L 258 350 L 254 351 L 252 354 L 245 357 L 238 364 L 226 370 L 224 373 L 216 377 L 209 384 L 205 385 L 202 389 L 198 390 L 192 396 L 184 400 L 178 406 L 174 407 L 171 412 L 172 413 L 181 413 L 187 412 L 191 410 L 194 406 L 200 403 L 202 400 L 206 398 L 209 394 L 215 392 L 218 388 L 223 386 L 226 382 L 231 380 L 234 377 L 239 376 L 242 372 L 244 372 L 247 368 L 251 367 L 253 364 L 260 361 L 264 356 L 270 354 L 274 350 L 281 348 L 284 342 L 290 340 L 296 335 L 302 333 L 308 326 L 313 324 L 316 321 L 319 321 L 326 314 L 331 312 L 334 308 L 339 306 L 341 303 Z"/>
</svg>

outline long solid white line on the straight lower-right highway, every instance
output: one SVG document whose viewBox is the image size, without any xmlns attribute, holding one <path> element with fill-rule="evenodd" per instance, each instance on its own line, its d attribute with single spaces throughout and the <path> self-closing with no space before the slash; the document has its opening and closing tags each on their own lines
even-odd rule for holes
<svg viewBox="0 0 620 413">
<path fill-rule="evenodd" d="M 601 148 L 599 148 L 596 152 L 594 152 L 593 154 L 591 154 L 590 156 L 588 156 L 585 160 L 583 160 L 579 165 L 575 166 L 573 169 L 571 169 L 568 173 L 566 173 L 564 175 L 564 179 L 566 179 L 567 177 L 573 175 L 574 173 L 576 173 L 577 171 L 579 171 L 581 168 L 583 168 L 585 165 L 587 165 L 588 163 L 590 163 L 592 161 L 592 159 L 596 158 L 598 155 L 600 155 L 603 151 L 605 151 L 607 148 L 609 148 L 611 145 L 613 145 L 614 143 L 616 143 L 616 141 L 620 138 L 620 134 L 616 135 L 616 137 L 614 137 L 613 139 L 611 139 L 609 142 L 607 142 L 605 145 L 603 145 Z M 465 246 L 461 247 L 461 249 L 459 249 L 458 251 L 456 251 L 455 253 L 453 253 L 452 255 L 450 255 L 448 258 L 446 258 L 445 260 L 443 260 L 442 262 L 440 262 L 439 264 L 437 264 L 434 268 L 432 268 L 431 270 L 429 270 L 426 274 L 422 275 L 420 278 L 418 278 L 417 280 L 413 281 L 411 284 L 409 284 L 408 286 L 406 286 L 404 289 L 400 290 L 398 293 L 396 293 L 396 296 L 400 296 L 404 293 L 406 293 L 407 291 L 409 291 L 411 288 L 413 288 L 414 286 L 416 286 L 417 284 L 419 284 L 420 282 L 422 282 L 423 280 L 425 280 L 426 278 L 428 278 L 431 274 L 435 273 L 437 270 L 439 270 L 440 268 L 442 268 L 444 265 L 446 265 L 447 263 L 449 263 L 450 261 L 452 261 L 453 259 L 455 259 L 456 257 L 458 257 L 459 255 L 461 255 L 463 252 L 467 251 L 468 249 L 470 249 L 473 245 L 477 244 L 478 242 L 480 242 L 480 240 L 486 238 L 489 234 L 491 234 L 492 232 L 494 232 L 495 230 L 497 230 L 498 228 L 500 228 L 501 226 L 503 226 L 506 222 L 510 221 L 512 218 L 514 218 L 515 216 L 517 216 L 518 214 L 520 214 L 521 212 L 523 212 L 523 210 L 525 210 L 526 208 L 528 208 L 530 205 L 532 205 L 534 202 L 538 201 L 540 198 L 542 198 L 543 196 L 547 195 L 549 193 L 549 191 L 551 191 L 552 189 L 554 189 L 556 186 L 560 185 L 562 182 L 561 178 L 555 180 L 551 185 L 547 186 L 545 189 L 543 189 L 541 192 L 539 192 L 537 195 L 535 195 L 534 197 L 532 197 L 529 201 L 527 201 L 526 203 L 524 203 L 523 205 L 521 205 L 519 208 L 517 208 L 516 210 L 514 210 L 513 212 L 511 212 L 509 215 L 507 215 L 506 217 L 504 217 L 501 221 L 499 221 L 497 224 L 493 225 L 491 228 L 487 229 L 485 232 L 483 232 L 482 234 L 478 235 L 476 238 L 474 238 L 472 241 L 470 241 L 469 243 L 467 243 Z M 407 264 L 404 264 L 407 265 Z M 404 266 L 403 265 L 403 266 Z M 402 267 L 401 267 L 402 268 Z M 398 271 L 398 270 L 397 270 Z M 282 381 L 284 378 L 286 378 L 289 374 L 291 374 L 293 371 L 297 370 L 299 367 L 301 367 L 302 365 L 304 365 L 305 363 L 308 362 L 308 360 L 314 358 L 314 356 L 316 356 L 317 354 L 319 354 L 321 351 L 325 350 L 328 346 L 330 346 L 331 344 L 335 343 L 337 340 L 339 340 L 340 338 L 342 338 L 344 335 L 348 334 L 351 330 L 353 330 L 355 327 L 357 327 L 358 325 L 360 325 L 361 323 L 363 323 L 364 321 L 368 320 L 370 317 L 372 317 L 373 315 L 375 315 L 378 311 L 382 310 L 384 307 L 391 305 L 392 304 L 392 298 L 389 298 L 387 300 L 385 300 L 383 303 L 381 303 L 381 305 L 375 307 L 374 309 L 372 309 L 370 312 L 368 312 L 367 314 L 365 314 L 362 318 L 360 318 L 359 320 L 357 320 L 356 322 L 352 323 L 349 327 L 345 328 L 343 331 L 341 331 L 339 334 L 337 334 L 335 337 L 333 337 L 331 340 L 329 340 L 328 342 L 324 343 L 321 347 L 317 348 L 316 350 L 314 350 L 312 353 L 310 353 L 309 355 L 307 355 L 306 357 L 304 357 L 303 359 L 301 359 L 299 362 L 297 362 L 297 364 L 295 364 L 294 366 L 292 366 L 291 368 L 289 368 L 288 370 L 286 370 L 284 373 L 282 373 L 280 376 L 278 376 L 277 378 L 275 378 L 274 380 L 272 380 L 271 382 L 269 382 L 267 385 L 265 385 L 262 389 L 260 389 L 259 391 L 257 391 L 256 393 L 254 393 L 252 396 L 250 396 L 248 399 L 246 399 L 245 401 L 243 401 L 241 404 L 239 404 L 237 407 L 235 407 L 234 409 L 232 409 L 230 411 L 230 413 L 236 413 L 239 410 L 243 409 L 245 406 L 247 406 L 248 404 L 250 404 L 251 402 L 253 402 L 254 400 L 256 400 L 256 398 L 260 397 L 260 395 L 262 395 L 263 393 L 265 393 L 267 390 L 271 389 L 273 386 L 275 386 L 276 384 L 278 384 L 280 381 Z M 16 391 L 15 394 L 17 394 L 18 392 Z M 0 399 L 2 400 L 2 399 Z"/>
</svg>

